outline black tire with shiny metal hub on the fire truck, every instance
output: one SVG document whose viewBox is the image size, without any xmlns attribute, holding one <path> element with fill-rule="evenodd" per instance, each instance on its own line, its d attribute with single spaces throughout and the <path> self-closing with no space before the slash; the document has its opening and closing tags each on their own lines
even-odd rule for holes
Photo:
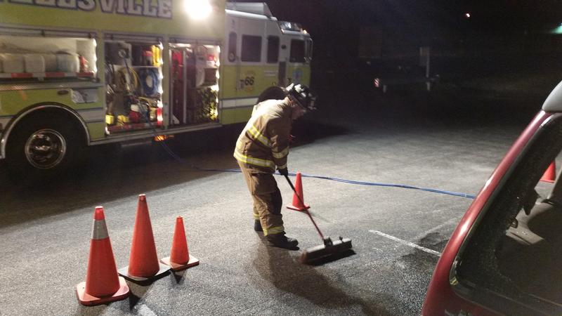
<svg viewBox="0 0 562 316">
<path fill-rule="evenodd" d="M 37 115 L 20 122 L 8 138 L 9 169 L 26 175 L 47 176 L 67 169 L 81 147 L 77 129 L 67 118 Z"/>
</svg>

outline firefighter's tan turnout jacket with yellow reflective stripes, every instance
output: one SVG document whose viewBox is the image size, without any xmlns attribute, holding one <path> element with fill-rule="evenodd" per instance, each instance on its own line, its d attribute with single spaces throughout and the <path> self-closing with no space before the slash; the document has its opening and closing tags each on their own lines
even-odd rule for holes
<svg viewBox="0 0 562 316">
<path fill-rule="evenodd" d="M 291 105 L 285 100 L 266 100 L 257 104 L 240 133 L 234 157 L 249 168 L 269 173 L 287 168 Z"/>
</svg>

